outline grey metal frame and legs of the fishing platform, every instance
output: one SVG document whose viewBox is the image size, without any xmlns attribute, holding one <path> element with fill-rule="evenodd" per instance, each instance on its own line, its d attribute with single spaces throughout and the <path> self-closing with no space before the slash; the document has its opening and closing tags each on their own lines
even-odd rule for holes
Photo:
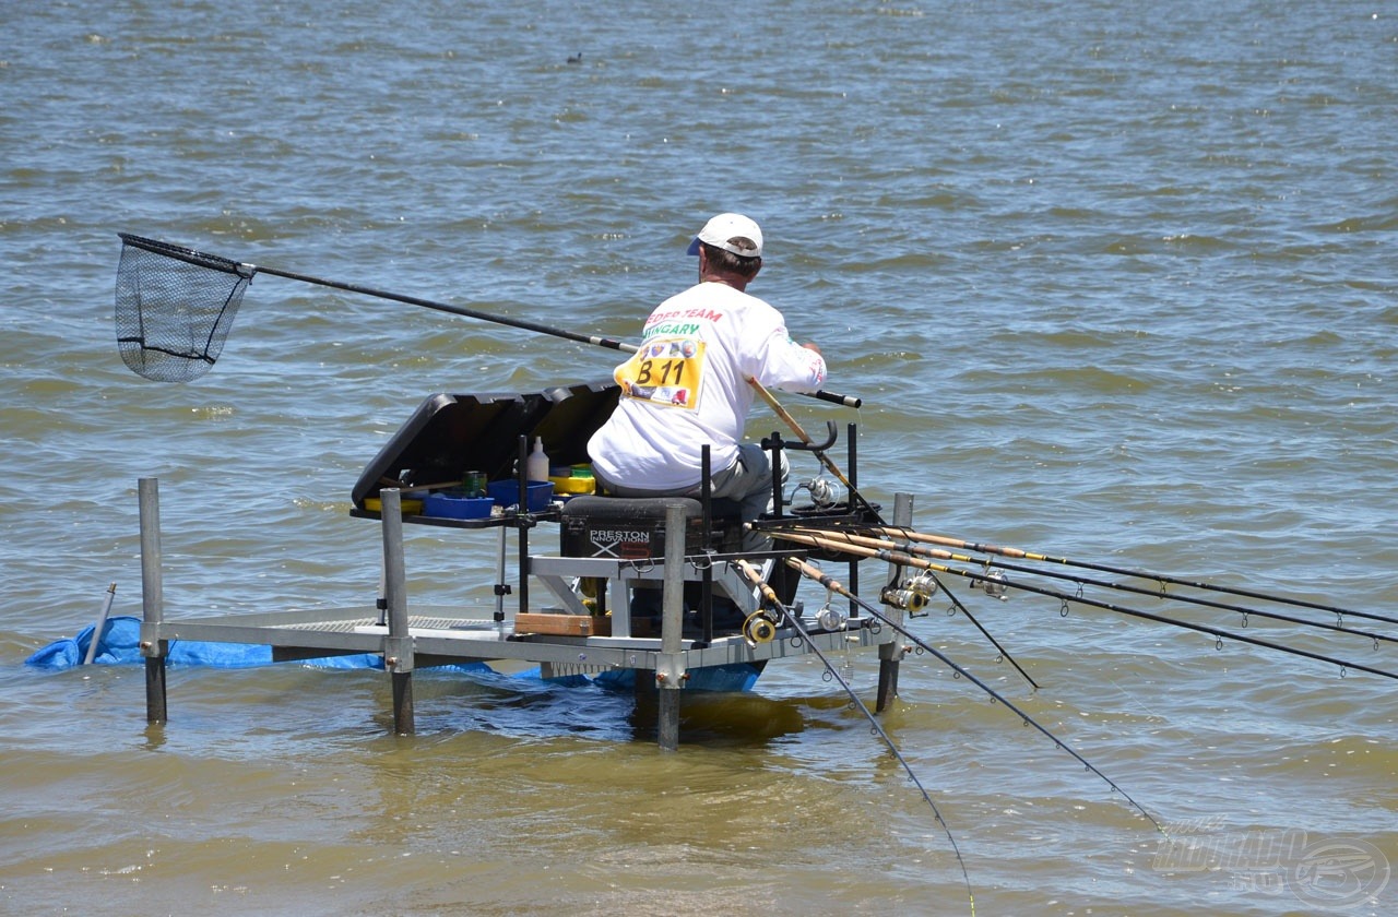
<svg viewBox="0 0 1398 917">
<path fill-rule="evenodd" d="M 467 618 L 447 607 L 415 608 L 407 605 L 405 563 L 403 548 L 401 493 L 393 488 L 380 492 L 384 595 L 373 607 L 341 609 L 302 609 L 257 614 L 233 614 L 201 618 L 165 619 L 161 580 L 161 533 L 158 481 L 138 481 L 141 507 L 143 622 L 140 649 L 145 658 L 147 720 L 168 720 L 165 660 L 172 640 L 210 643 L 247 643 L 273 647 L 273 658 L 323 658 L 343 654 L 376 654 L 393 682 L 393 723 L 398 734 L 415 732 L 412 672 L 419 667 L 459 663 L 531 663 L 545 677 L 579 671 L 614 668 L 653 672 L 660 691 L 658 742 L 661 748 L 678 746 L 679 691 L 693 670 L 738 663 L 763 663 L 822 651 L 881 647 L 879 706 L 885 706 L 885 682 L 889 664 L 896 667 L 900 651 L 896 632 L 882 628 L 870 616 L 851 616 L 846 629 L 816 632 L 802 619 L 808 636 L 790 625 L 779 625 L 769 642 L 752 642 L 741 635 L 716 636 L 699 642 L 682 636 L 681 591 L 685 582 L 713 576 L 719 591 L 740 604 L 744 612 L 756 609 L 751 589 L 744 589 L 728 563 L 714 565 L 712 555 L 685 556 L 684 519 L 678 509 L 667 517 L 667 555 L 660 565 L 605 558 L 561 558 L 527 555 L 521 558 L 521 580 L 538 579 L 563 602 L 566 612 L 584 612 L 572 597 L 566 579 L 596 576 L 612 583 L 624 594 L 629 583 L 661 580 L 663 623 L 660 637 L 630 636 L 628 602 L 612 604 L 614 635 L 556 636 L 514 635 L 509 622 Z M 517 526 L 523 549 L 524 533 L 535 524 L 530 519 Z M 721 569 L 720 569 L 721 568 Z M 503 570 L 500 570 L 503 576 Z M 524 583 L 521 582 L 523 587 Z M 521 591 L 524 591 L 521 589 Z M 558 611 L 558 609 L 549 609 Z M 892 682 L 896 685 L 896 677 Z"/>
</svg>

